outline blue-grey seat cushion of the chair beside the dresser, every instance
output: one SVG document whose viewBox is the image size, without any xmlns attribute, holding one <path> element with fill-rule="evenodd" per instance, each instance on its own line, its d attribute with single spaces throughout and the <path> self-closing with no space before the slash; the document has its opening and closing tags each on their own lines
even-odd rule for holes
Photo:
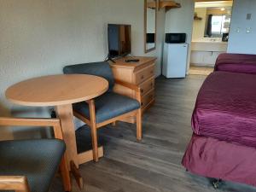
<svg viewBox="0 0 256 192">
<path fill-rule="evenodd" d="M 95 99 L 96 106 L 96 123 L 112 119 L 121 114 L 125 114 L 140 108 L 137 100 L 128 96 L 121 96 L 117 93 L 107 92 Z M 89 106 L 86 102 L 73 104 L 73 109 L 90 119 Z"/>
</svg>

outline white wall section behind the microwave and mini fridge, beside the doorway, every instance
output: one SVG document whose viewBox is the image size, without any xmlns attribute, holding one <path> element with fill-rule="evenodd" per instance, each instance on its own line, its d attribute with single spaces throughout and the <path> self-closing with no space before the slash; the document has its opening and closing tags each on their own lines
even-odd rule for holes
<svg viewBox="0 0 256 192">
<path fill-rule="evenodd" d="M 176 2 L 181 3 L 182 7 L 179 9 L 171 9 L 168 12 L 166 12 L 166 32 L 187 33 L 187 43 L 189 44 L 187 68 L 189 70 L 195 1 L 177 0 Z"/>
</svg>

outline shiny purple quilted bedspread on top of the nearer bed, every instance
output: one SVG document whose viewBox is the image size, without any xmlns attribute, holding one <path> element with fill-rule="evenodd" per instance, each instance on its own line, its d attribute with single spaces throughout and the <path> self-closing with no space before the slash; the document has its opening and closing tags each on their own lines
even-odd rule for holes
<svg viewBox="0 0 256 192">
<path fill-rule="evenodd" d="M 210 74 L 199 91 L 192 128 L 200 136 L 256 147 L 256 76 Z"/>
</svg>

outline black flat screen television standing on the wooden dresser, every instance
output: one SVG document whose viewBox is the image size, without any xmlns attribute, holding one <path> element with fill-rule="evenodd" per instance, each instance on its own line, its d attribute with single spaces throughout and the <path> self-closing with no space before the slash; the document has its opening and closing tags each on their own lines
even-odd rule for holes
<svg viewBox="0 0 256 192">
<path fill-rule="evenodd" d="M 108 58 L 131 54 L 131 25 L 108 24 Z"/>
</svg>

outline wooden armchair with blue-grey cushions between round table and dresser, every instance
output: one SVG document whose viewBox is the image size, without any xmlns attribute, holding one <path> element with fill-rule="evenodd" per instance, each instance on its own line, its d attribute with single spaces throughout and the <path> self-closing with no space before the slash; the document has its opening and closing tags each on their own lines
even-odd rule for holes
<svg viewBox="0 0 256 192">
<path fill-rule="evenodd" d="M 66 74 L 80 73 L 96 75 L 108 80 L 109 89 L 105 94 L 96 97 L 94 100 L 73 104 L 74 115 L 90 126 L 95 161 L 98 161 L 96 130 L 104 125 L 114 124 L 117 120 L 136 116 L 137 140 L 142 139 L 141 91 L 137 85 L 114 80 L 112 69 L 106 61 L 67 66 L 64 67 L 63 72 Z M 120 84 L 131 90 L 135 90 L 136 99 L 114 93 L 114 84 Z"/>
</svg>

